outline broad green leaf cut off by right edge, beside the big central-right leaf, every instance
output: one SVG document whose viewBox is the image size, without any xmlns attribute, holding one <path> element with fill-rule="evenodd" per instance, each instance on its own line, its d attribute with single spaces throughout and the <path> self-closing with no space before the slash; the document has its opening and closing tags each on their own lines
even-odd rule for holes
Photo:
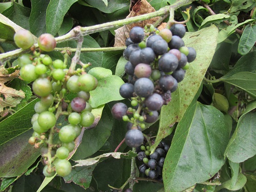
<svg viewBox="0 0 256 192">
<path fill-rule="evenodd" d="M 228 143 L 225 155 L 232 162 L 240 163 L 256 154 L 256 113 L 250 112 L 255 108 L 256 101 L 247 105 Z"/>
</svg>

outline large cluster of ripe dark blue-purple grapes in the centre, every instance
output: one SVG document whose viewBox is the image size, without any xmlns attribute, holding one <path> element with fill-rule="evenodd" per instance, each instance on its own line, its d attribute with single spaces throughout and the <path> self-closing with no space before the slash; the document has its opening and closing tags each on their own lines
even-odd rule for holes
<svg viewBox="0 0 256 192">
<path fill-rule="evenodd" d="M 127 48 L 123 56 L 129 61 L 124 71 L 128 82 L 122 84 L 119 93 L 123 98 L 131 99 L 133 108 L 116 103 L 112 114 L 117 119 L 129 121 L 125 141 L 131 147 L 141 145 L 143 122 L 157 121 L 162 106 L 172 99 L 172 93 L 184 79 L 189 62 L 196 58 L 195 49 L 185 47 L 182 40 L 185 32 L 182 24 L 161 31 L 147 25 L 144 29 L 132 28 L 125 41 Z"/>
</svg>

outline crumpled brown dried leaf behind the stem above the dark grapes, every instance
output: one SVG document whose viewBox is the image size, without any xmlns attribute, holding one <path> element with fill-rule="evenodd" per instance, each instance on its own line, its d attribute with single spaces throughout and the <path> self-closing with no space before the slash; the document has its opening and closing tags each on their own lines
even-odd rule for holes
<svg viewBox="0 0 256 192">
<path fill-rule="evenodd" d="M 132 7 L 132 4 L 130 7 Z M 154 11 L 156 11 L 156 10 L 146 0 L 139 0 L 132 7 L 131 13 L 126 18 L 143 15 L 146 13 L 151 13 Z M 155 23 L 156 20 L 158 20 L 158 19 L 159 19 L 159 17 L 154 17 L 151 19 L 143 20 L 139 23 L 129 24 L 129 25 L 125 25 L 123 27 L 118 28 L 117 30 L 115 30 L 116 35 L 115 35 L 115 45 L 114 46 L 115 47 L 125 46 L 125 40 L 126 40 L 126 38 L 129 37 L 130 30 L 133 27 L 135 27 L 135 26 L 144 27 L 146 24 Z"/>
</svg>

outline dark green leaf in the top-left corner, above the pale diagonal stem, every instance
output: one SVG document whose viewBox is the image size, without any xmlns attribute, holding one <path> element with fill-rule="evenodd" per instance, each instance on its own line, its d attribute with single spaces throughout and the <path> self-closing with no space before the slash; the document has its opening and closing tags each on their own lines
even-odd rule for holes
<svg viewBox="0 0 256 192">
<path fill-rule="evenodd" d="M 20 27 L 29 30 L 30 12 L 31 9 L 13 2 L 13 5 L 9 9 L 5 10 L 2 14 Z"/>
</svg>

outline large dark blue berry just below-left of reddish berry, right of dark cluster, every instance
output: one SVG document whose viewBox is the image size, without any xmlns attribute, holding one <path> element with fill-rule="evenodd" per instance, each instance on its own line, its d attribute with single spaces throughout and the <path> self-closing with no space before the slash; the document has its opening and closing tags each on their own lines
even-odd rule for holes
<svg viewBox="0 0 256 192">
<path fill-rule="evenodd" d="M 165 73 L 175 71 L 178 67 L 179 60 L 172 53 L 165 53 L 158 61 L 159 69 Z"/>
</svg>

